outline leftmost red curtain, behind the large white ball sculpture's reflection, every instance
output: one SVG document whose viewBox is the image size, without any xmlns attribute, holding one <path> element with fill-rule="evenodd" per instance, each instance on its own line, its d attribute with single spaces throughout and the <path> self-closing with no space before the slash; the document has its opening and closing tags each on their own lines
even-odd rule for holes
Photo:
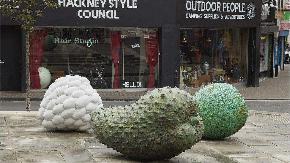
<svg viewBox="0 0 290 163">
<path fill-rule="evenodd" d="M 38 67 L 40 66 L 45 44 L 40 41 L 46 36 L 45 30 L 34 30 L 29 34 L 30 89 L 41 89 Z M 44 40 L 46 42 L 46 40 Z M 43 46 L 43 47 L 42 47 Z"/>
</svg>

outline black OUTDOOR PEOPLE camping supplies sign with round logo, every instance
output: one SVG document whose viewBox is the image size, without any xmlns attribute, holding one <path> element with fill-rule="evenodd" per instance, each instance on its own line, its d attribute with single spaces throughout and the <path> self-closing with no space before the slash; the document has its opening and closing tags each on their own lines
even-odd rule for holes
<svg viewBox="0 0 290 163">
<path fill-rule="evenodd" d="M 177 22 L 182 27 L 192 27 L 193 24 L 198 26 L 202 24 L 217 24 L 221 23 L 250 23 L 253 27 L 256 26 L 257 18 L 260 18 L 258 13 L 261 13 L 260 5 L 255 4 L 255 1 L 190 1 L 181 0 L 177 3 Z M 211 26 L 212 26 L 211 25 Z M 225 24 L 228 26 L 229 24 Z M 249 24 L 245 24 L 249 26 Z"/>
</svg>

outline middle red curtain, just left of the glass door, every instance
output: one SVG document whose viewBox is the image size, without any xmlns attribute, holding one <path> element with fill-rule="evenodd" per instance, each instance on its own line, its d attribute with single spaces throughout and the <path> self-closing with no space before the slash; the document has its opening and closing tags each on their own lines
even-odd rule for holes
<svg viewBox="0 0 290 163">
<path fill-rule="evenodd" d="M 111 31 L 110 34 L 110 50 L 111 50 L 111 58 L 115 67 L 115 75 L 113 88 L 119 88 L 119 53 L 120 53 L 120 44 L 121 44 L 121 31 Z"/>
</svg>

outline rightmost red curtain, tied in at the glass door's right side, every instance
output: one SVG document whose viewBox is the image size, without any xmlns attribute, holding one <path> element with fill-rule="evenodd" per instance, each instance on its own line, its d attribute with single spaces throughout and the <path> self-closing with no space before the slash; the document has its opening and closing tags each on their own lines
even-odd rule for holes
<svg viewBox="0 0 290 163">
<path fill-rule="evenodd" d="M 146 43 L 146 58 L 147 65 L 150 68 L 149 81 L 147 88 L 154 87 L 154 69 L 158 63 L 158 31 L 146 31 L 149 38 L 145 40 Z"/>
</svg>

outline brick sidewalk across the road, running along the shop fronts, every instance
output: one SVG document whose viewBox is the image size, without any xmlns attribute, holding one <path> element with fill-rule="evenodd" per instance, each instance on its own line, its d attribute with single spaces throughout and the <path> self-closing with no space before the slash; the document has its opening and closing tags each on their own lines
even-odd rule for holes
<svg viewBox="0 0 290 163">
<path fill-rule="evenodd" d="M 259 87 L 245 87 L 235 85 L 237 90 L 242 94 L 244 99 L 289 99 L 289 65 L 285 66 L 278 74 L 278 78 L 263 77 L 260 78 Z M 188 93 L 195 94 L 201 88 L 185 89 Z M 146 92 L 101 92 L 98 91 L 104 101 L 134 101 Z M 1 91 L 1 101 L 25 101 L 26 93 L 17 91 Z M 31 92 L 31 101 L 41 101 L 45 92 Z"/>
</svg>

